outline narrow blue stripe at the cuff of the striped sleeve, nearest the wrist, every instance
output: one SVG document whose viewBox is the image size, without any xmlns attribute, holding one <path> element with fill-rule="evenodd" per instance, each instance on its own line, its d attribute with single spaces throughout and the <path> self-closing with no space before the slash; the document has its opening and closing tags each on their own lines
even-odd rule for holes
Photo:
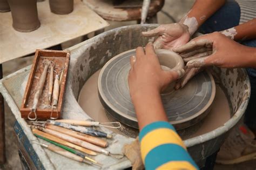
<svg viewBox="0 0 256 170">
<path fill-rule="evenodd" d="M 145 137 L 145 135 L 157 128 L 170 128 L 171 130 L 173 130 L 174 132 L 176 132 L 176 130 L 174 129 L 174 127 L 167 121 L 156 121 L 154 123 L 151 123 L 149 125 L 146 125 L 142 131 L 139 132 L 139 141 L 141 142 L 143 137 Z"/>
</svg>

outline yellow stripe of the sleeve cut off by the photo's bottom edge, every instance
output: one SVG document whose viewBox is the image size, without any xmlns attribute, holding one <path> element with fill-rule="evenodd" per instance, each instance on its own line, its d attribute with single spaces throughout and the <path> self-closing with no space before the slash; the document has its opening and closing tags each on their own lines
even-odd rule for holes
<svg viewBox="0 0 256 170">
<path fill-rule="evenodd" d="M 170 161 L 164 165 L 161 165 L 157 168 L 157 170 L 180 170 L 180 169 L 189 169 L 189 170 L 196 170 L 197 168 L 190 164 L 187 161 Z"/>
</svg>

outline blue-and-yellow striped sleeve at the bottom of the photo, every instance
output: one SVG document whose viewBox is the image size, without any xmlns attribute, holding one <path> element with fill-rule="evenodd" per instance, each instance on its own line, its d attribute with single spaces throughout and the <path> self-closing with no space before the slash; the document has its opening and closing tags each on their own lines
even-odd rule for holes
<svg viewBox="0 0 256 170">
<path fill-rule="evenodd" d="M 186 146 L 166 121 L 156 121 L 139 133 L 142 160 L 149 169 L 199 169 Z"/>
</svg>

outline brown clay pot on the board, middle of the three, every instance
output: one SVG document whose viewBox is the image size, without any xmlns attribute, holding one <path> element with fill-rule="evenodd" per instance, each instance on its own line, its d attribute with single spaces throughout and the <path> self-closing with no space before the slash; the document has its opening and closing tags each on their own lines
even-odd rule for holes
<svg viewBox="0 0 256 170">
<path fill-rule="evenodd" d="M 20 32 L 30 32 L 40 26 L 37 14 L 36 0 L 8 0 L 11 15 L 12 26 Z"/>
</svg>

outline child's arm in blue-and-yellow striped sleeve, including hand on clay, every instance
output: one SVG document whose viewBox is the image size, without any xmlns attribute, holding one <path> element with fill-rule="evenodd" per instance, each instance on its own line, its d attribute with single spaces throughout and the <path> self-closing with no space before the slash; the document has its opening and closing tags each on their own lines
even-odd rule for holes
<svg viewBox="0 0 256 170">
<path fill-rule="evenodd" d="M 168 122 L 160 97 L 160 91 L 182 77 L 184 70 L 162 70 L 152 43 L 146 45 L 145 52 L 143 47 L 138 47 L 130 64 L 128 82 L 139 123 L 140 151 L 145 169 L 199 169 Z"/>
</svg>

